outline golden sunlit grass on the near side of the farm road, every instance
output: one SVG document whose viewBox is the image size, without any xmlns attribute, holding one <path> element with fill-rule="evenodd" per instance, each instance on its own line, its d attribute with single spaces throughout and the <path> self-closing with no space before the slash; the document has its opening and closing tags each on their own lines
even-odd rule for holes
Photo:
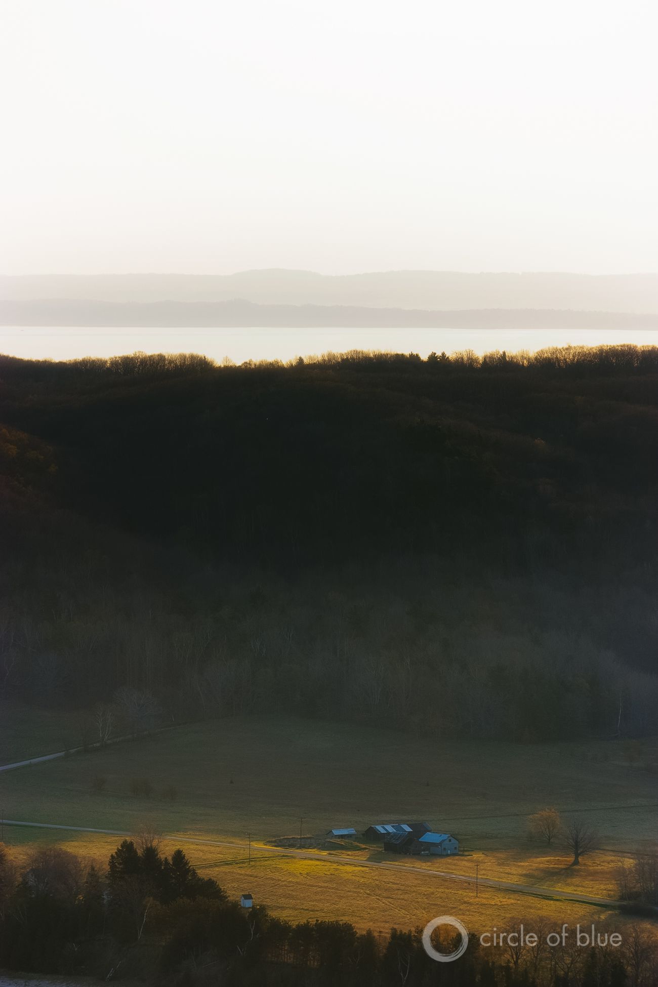
<svg viewBox="0 0 658 987">
<path fill-rule="evenodd" d="M 34 839 L 34 833 L 14 830 L 11 838 L 12 855 L 19 862 L 25 860 L 33 844 L 23 841 Z M 110 836 L 80 833 L 63 837 L 52 831 L 39 833 L 38 839 L 57 843 L 101 865 L 107 864 L 117 843 Z M 176 840 L 165 840 L 161 850 L 170 854 L 177 846 Z M 461 917 L 476 932 L 494 925 L 511 928 L 517 919 L 523 920 L 527 928 L 542 918 L 559 927 L 562 922 L 599 923 L 615 914 L 577 902 L 519 895 L 481 885 L 475 897 L 474 885 L 440 878 L 429 880 L 410 870 L 386 872 L 263 852 L 254 853 L 250 865 L 246 846 L 244 851 L 193 844 L 183 848 L 199 873 L 214 877 L 232 897 L 251 891 L 256 902 L 266 905 L 272 914 L 295 922 L 340 919 L 362 930 L 384 933 L 393 926 L 423 926 L 435 915 L 446 913 Z M 458 865 L 456 871 L 475 871 L 474 861 L 453 863 Z M 484 873 L 481 866 L 480 873 Z"/>
</svg>

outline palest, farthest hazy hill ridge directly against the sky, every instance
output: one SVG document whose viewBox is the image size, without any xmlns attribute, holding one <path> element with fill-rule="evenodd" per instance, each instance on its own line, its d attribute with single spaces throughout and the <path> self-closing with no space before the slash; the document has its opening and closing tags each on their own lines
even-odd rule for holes
<svg viewBox="0 0 658 987">
<path fill-rule="evenodd" d="M 392 270 L 327 275 L 309 270 L 236 274 L 0 277 L 0 299 L 354 305 L 366 308 L 575 309 L 658 313 L 658 274 L 460 273 Z"/>
</svg>

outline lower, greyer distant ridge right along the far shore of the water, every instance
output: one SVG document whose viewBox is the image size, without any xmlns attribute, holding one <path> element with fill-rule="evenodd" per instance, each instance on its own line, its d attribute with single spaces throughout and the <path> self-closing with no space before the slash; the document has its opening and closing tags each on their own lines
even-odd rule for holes
<svg viewBox="0 0 658 987">
<path fill-rule="evenodd" d="M 0 326 L 658 330 L 658 313 L 520 308 L 431 311 L 355 305 L 256 305 L 244 299 L 224 302 L 46 299 L 0 301 Z"/>
</svg>

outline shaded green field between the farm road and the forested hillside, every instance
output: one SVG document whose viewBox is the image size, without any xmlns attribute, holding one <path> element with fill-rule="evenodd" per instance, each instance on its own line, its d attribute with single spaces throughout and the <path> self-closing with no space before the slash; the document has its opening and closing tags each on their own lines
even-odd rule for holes
<svg viewBox="0 0 658 987">
<path fill-rule="evenodd" d="M 96 776 L 106 789 L 94 791 Z M 130 793 L 146 779 L 150 797 Z M 176 800 L 161 795 L 174 786 Z M 257 839 L 422 819 L 463 850 L 518 848 L 528 813 L 585 813 L 605 848 L 655 835 L 656 776 L 615 743 L 448 743 L 340 723 L 235 718 L 182 726 L 0 776 L 7 818 Z"/>
</svg>

